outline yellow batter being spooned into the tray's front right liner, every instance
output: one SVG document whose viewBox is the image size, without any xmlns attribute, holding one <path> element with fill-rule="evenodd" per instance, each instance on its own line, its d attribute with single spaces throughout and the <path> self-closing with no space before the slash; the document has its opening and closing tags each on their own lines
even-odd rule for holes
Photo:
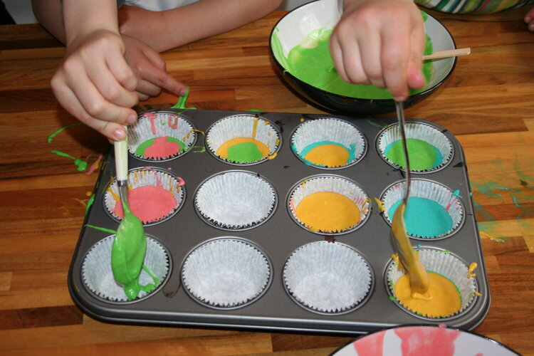
<svg viewBox="0 0 534 356">
<path fill-rule="evenodd" d="M 412 297 L 409 276 L 405 274 L 394 286 L 397 299 L 412 312 L 430 318 L 446 317 L 459 311 L 461 296 L 454 283 L 431 271 L 428 271 L 428 276 L 430 278 L 428 298 L 421 295 Z"/>
</svg>

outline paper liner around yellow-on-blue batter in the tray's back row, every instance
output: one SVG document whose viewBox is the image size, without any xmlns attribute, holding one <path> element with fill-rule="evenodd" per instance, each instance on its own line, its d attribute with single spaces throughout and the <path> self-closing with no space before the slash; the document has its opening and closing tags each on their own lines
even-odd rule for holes
<svg viewBox="0 0 534 356">
<path fill-rule="evenodd" d="M 349 161 L 341 166 L 327 167 L 305 159 L 303 150 L 319 142 L 342 145 L 350 152 Z M 362 159 L 366 149 L 365 138 L 357 127 L 332 117 L 304 121 L 291 135 L 291 150 L 295 155 L 305 164 L 323 169 L 340 169 L 355 164 Z"/>
</svg>

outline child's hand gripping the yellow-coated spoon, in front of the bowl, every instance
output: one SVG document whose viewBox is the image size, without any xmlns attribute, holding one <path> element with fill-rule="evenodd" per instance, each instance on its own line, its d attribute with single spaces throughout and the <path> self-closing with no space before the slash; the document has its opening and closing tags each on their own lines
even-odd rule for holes
<svg viewBox="0 0 534 356">
<path fill-rule="evenodd" d="M 343 80 L 388 88 L 399 101 L 424 85 L 423 50 L 423 19 L 412 0 L 345 0 L 330 38 Z"/>
</svg>

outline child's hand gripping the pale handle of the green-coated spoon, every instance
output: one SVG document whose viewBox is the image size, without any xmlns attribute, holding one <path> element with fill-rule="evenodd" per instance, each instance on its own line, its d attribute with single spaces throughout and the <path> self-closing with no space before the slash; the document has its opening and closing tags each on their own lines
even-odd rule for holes
<svg viewBox="0 0 534 356">
<path fill-rule="evenodd" d="M 63 63 L 52 78 L 59 103 L 81 122 L 110 140 L 122 140 L 122 125 L 137 114 L 137 79 L 123 56 L 118 33 L 98 30 L 69 43 Z"/>
</svg>

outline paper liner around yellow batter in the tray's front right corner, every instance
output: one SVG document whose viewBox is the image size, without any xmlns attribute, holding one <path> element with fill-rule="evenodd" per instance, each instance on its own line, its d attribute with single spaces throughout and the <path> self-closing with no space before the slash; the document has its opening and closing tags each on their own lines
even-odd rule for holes
<svg viewBox="0 0 534 356">
<path fill-rule="evenodd" d="M 475 300 L 476 292 L 476 279 L 468 278 L 468 266 L 464 261 L 457 256 L 455 256 L 450 251 L 444 251 L 438 248 L 422 247 L 414 248 L 415 251 L 419 252 L 419 259 L 421 260 L 426 271 L 431 271 L 438 273 L 441 276 L 449 279 L 454 286 L 458 289 L 461 296 L 461 308 L 456 313 L 451 315 L 441 315 L 439 318 L 431 318 L 429 316 L 422 315 L 420 313 L 415 313 L 412 310 L 409 310 L 405 305 L 403 305 L 396 297 L 394 286 L 399 278 L 404 276 L 404 269 L 400 268 L 396 262 L 390 261 L 389 265 L 386 268 L 386 281 L 387 281 L 387 290 L 389 295 L 395 298 L 395 302 L 399 305 L 402 310 L 416 315 L 419 318 L 426 318 L 428 320 L 436 320 L 443 318 L 453 318 L 461 315 L 466 311 L 471 305 L 473 300 Z"/>
</svg>

